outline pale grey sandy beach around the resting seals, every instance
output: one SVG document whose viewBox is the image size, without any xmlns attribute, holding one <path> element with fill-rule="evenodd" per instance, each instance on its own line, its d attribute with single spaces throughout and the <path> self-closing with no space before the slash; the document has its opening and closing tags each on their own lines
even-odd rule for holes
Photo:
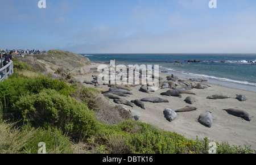
<svg viewBox="0 0 256 165">
<path fill-rule="evenodd" d="M 87 67 L 90 69 L 92 67 L 97 67 L 98 65 L 99 64 L 94 63 Z M 75 78 L 82 83 L 85 80 L 92 81 L 92 75 L 95 74 L 97 75 L 98 73 L 92 72 L 86 75 L 77 75 Z M 171 74 L 171 72 L 164 74 L 159 73 L 159 77 L 162 77 L 163 81 L 167 81 L 166 76 Z M 247 145 L 256 149 L 256 119 L 254 117 L 256 116 L 256 93 L 218 86 L 207 82 L 203 83 L 208 84 L 209 87 L 205 89 L 193 88 L 191 91 L 194 92 L 195 95 L 181 94 L 182 98 L 160 95 L 160 93 L 166 92 L 167 90 L 170 90 L 170 88 L 159 88 L 159 90 L 147 94 L 139 91 L 141 85 L 131 87 L 133 95 L 122 98 L 131 101 L 135 99 L 159 97 L 169 101 L 169 103 L 143 102 L 146 109 L 142 109 L 138 106 L 134 106 L 133 108 L 128 106 L 129 109 L 133 109 L 141 113 L 139 121 L 156 125 L 167 131 L 179 133 L 190 139 L 196 139 L 196 136 L 200 139 L 208 137 L 212 141 L 228 142 L 230 145 L 236 146 Z M 86 87 L 94 87 L 93 84 L 84 83 L 84 85 Z M 105 85 L 102 89 L 108 91 L 109 87 Z M 217 100 L 207 99 L 207 96 L 216 94 L 228 95 L 230 98 Z M 247 100 L 239 101 L 235 99 L 238 94 L 245 95 Z M 185 103 L 184 99 L 187 98 L 187 96 L 193 96 L 196 99 L 195 103 L 192 105 Z M 163 115 L 165 108 L 177 109 L 187 105 L 197 107 L 196 111 L 177 112 L 177 118 L 171 122 L 166 120 Z M 226 111 L 222 110 L 228 108 L 245 110 L 253 117 L 251 121 L 246 121 L 241 117 L 230 115 Z M 211 112 L 213 117 L 213 124 L 210 128 L 197 121 L 200 114 L 205 111 Z"/>
</svg>

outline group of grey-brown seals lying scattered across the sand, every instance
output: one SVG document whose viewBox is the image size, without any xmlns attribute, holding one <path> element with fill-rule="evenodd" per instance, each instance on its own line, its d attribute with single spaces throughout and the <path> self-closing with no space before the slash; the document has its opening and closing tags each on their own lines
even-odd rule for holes
<svg viewBox="0 0 256 165">
<path fill-rule="evenodd" d="M 182 98 L 181 94 L 195 95 L 195 93 L 191 91 L 191 88 L 204 89 L 204 88 L 209 87 L 208 84 L 193 83 L 193 82 L 200 82 L 200 81 L 202 82 L 203 80 L 200 80 L 200 79 L 190 79 L 190 81 L 193 81 L 193 82 L 189 83 L 187 81 L 177 80 L 178 78 L 175 77 L 175 75 L 173 75 L 173 74 L 170 76 L 167 76 L 166 78 L 167 78 L 167 82 L 160 82 L 160 86 L 162 89 L 170 88 L 171 90 L 160 93 L 160 95 L 162 95 L 162 96 L 174 96 L 174 97 Z M 159 79 L 159 81 L 160 81 L 160 79 Z M 84 81 L 84 83 L 92 84 L 94 82 Z M 176 86 L 179 85 L 177 83 L 183 83 L 183 84 L 185 84 L 185 87 L 183 86 L 181 88 L 180 87 L 176 88 Z M 147 86 L 141 86 L 139 88 L 139 91 L 150 94 L 151 90 Z M 114 99 L 114 103 L 125 104 L 125 105 L 129 105 L 130 107 L 134 107 L 136 105 L 138 107 L 141 107 L 142 109 L 146 109 L 143 101 L 148 101 L 151 103 L 168 103 L 169 102 L 167 99 L 162 99 L 162 98 L 158 98 L 158 97 L 135 99 L 135 100 L 131 100 L 131 101 L 122 99 L 121 98 L 122 96 L 132 95 L 131 88 L 129 86 L 110 86 L 109 91 L 102 92 L 102 95 L 104 95 L 110 99 Z M 230 98 L 230 97 L 226 96 L 226 95 L 220 95 L 220 94 L 216 94 L 216 95 L 207 97 L 207 99 L 214 99 L 214 100 L 215 99 L 228 99 L 228 98 Z M 247 100 L 247 98 L 244 95 L 237 95 L 236 99 L 239 101 Z M 184 101 L 185 101 L 185 103 L 193 104 L 193 103 L 195 103 L 196 100 L 193 96 L 188 96 L 187 98 L 185 98 Z M 176 110 L 166 108 L 166 109 L 164 109 L 163 113 L 164 113 L 164 117 L 166 117 L 166 119 L 171 122 L 177 118 L 177 113 L 196 111 L 196 109 L 197 109 L 197 107 L 191 107 L 191 106 L 185 106 L 185 107 L 182 107 L 182 108 L 179 108 Z M 234 109 L 234 108 L 223 109 L 223 110 L 228 112 L 230 115 L 241 117 L 242 119 L 245 119 L 247 121 L 251 120 L 251 116 L 249 115 L 249 113 L 244 110 Z M 212 112 L 205 111 L 205 112 L 201 113 L 201 115 L 199 116 L 197 121 L 200 122 L 200 124 L 210 128 L 213 124 Z"/>
</svg>

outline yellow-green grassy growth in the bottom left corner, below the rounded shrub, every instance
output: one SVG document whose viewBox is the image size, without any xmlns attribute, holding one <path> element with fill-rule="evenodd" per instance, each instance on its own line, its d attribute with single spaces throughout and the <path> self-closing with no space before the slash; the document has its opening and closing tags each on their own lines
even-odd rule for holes
<svg viewBox="0 0 256 165">
<path fill-rule="evenodd" d="M 0 120 L 0 154 L 37 154 L 39 142 L 46 143 L 48 154 L 73 153 L 69 138 L 60 130 L 25 127 L 16 128 L 15 123 Z"/>
</svg>

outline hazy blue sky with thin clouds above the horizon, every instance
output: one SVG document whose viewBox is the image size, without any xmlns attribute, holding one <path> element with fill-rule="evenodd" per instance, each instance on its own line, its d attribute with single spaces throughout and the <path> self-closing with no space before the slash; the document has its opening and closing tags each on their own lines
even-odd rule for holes
<svg viewBox="0 0 256 165">
<path fill-rule="evenodd" d="M 256 1 L 0 0 L 0 49 L 256 53 Z"/>
</svg>

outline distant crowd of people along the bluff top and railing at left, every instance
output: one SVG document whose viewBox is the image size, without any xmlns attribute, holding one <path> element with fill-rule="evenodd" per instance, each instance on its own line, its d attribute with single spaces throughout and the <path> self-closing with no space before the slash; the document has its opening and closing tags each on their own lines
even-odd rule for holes
<svg viewBox="0 0 256 165">
<path fill-rule="evenodd" d="M 21 50 L 21 49 L 0 49 L 1 52 L 1 67 L 9 64 L 10 60 L 13 60 L 14 56 L 23 56 L 24 54 L 44 54 L 46 50 Z"/>
</svg>

